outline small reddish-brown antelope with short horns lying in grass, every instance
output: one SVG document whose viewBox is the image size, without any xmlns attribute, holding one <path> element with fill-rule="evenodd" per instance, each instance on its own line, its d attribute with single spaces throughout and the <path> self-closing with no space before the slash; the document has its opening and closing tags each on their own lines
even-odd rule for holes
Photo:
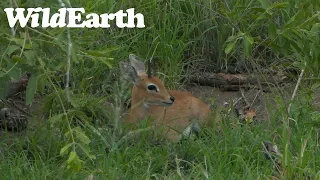
<svg viewBox="0 0 320 180">
<path fill-rule="evenodd" d="M 156 127 L 162 127 L 162 134 L 177 142 L 191 132 L 199 132 L 200 124 L 208 123 L 210 109 L 203 101 L 190 92 L 167 90 L 164 83 L 148 71 L 144 62 L 130 54 L 128 62 L 120 62 L 120 70 L 125 79 L 133 83 L 130 112 L 125 124 L 138 124 L 151 116 Z M 154 62 L 154 61 L 153 61 Z"/>
</svg>

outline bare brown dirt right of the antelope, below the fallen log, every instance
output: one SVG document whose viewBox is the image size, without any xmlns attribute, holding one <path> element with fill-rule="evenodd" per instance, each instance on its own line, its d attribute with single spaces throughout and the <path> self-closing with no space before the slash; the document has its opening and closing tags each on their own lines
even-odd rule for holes
<svg viewBox="0 0 320 180">
<path fill-rule="evenodd" d="M 224 91 L 222 89 L 211 86 L 193 85 L 186 87 L 186 90 L 192 92 L 195 97 L 202 99 L 207 104 L 212 105 L 213 103 L 214 107 L 231 105 L 232 103 L 235 103 L 237 100 L 239 100 L 239 98 L 244 96 L 250 104 L 250 108 L 256 111 L 256 119 L 268 120 L 268 118 L 271 117 L 273 111 L 277 109 L 278 103 L 275 99 L 279 98 L 283 100 L 283 102 L 288 104 L 290 102 L 294 88 L 295 84 L 287 84 L 280 88 L 273 88 L 270 92 L 261 92 L 257 89 L 250 89 L 244 90 L 243 95 L 241 95 L 240 91 Z M 313 99 L 316 109 L 320 111 L 320 88 L 315 91 Z M 243 103 L 244 102 L 242 101 L 242 104 L 240 104 L 240 106 L 244 106 Z"/>
</svg>

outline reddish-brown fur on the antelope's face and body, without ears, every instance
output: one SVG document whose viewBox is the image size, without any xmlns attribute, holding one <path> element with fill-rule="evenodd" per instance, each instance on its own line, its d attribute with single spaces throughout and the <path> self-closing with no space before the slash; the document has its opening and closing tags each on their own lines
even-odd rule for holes
<svg viewBox="0 0 320 180">
<path fill-rule="evenodd" d="M 132 88 L 131 109 L 126 124 L 137 124 L 151 115 L 155 126 L 163 128 L 164 136 L 171 141 L 178 141 L 181 133 L 189 125 L 195 122 L 199 122 L 200 125 L 207 123 L 210 109 L 190 92 L 168 91 L 158 77 L 148 78 L 146 73 L 140 73 L 139 77 L 139 81 Z M 148 84 L 156 85 L 159 92 L 149 91 Z M 173 104 L 163 104 L 170 102 L 171 96 L 175 98 Z"/>
</svg>

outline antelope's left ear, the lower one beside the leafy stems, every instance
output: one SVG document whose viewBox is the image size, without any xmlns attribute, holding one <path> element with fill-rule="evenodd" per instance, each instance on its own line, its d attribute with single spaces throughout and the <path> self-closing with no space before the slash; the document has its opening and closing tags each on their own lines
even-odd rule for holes
<svg viewBox="0 0 320 180">
<path fill-rule="evenodd" d="M 137 70 L 133 66 L 123 61 L 121 61 L 119 65 L 120 65 L 121 74 L 125 79 L 127 79 L 128 81 L 131 81 L 136 86 L 140 84 L 141 78 L 138 75 Z"/>
</svg>

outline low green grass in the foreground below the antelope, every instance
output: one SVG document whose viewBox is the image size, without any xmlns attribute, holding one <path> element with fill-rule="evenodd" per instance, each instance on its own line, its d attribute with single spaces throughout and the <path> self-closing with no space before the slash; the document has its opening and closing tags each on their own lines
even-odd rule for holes
<svg viewBox="0 0 320 180">
<path fill-rule="evenodd" d="M 1 174 L 1 179 L 83 179 L 91 174 L 94 179 L 319 178 L 319 137 L 314 136 L 317 131 L 315 128 L 310 129 L 303 123 L 294 125 L 290 148 L 285 152 L 281 146 L 285 144 L 283 127 L 279 122 L 273 122 L 275 125 L 272 128 L 262 122 L 257 125 L 237 125 L 231 129 L 230 119 L 230 116 L 223 119 L 221 132 L 207 128 L 201 138 L 178 144 L 150 143 L 145 140 L 150 134 L 141 133 L 142 137 L 137 138 L 139 140 L 126 141 L 108 150 L 100 138 L 111 141 L 112 136 L 91 135 L 90 148 L 96 160 L 84 158 L 78 173 L 67 169 L 65 159 L 59 156 L 63 137 L 43 128 L 29 132 L 1 150 L 0 169 L 6 172 Z M 303 119 L 296 120 L 301 122 Z M 108 131 L 106 127 L 99 129 L 104 133 Z M 281 167 L 281 172 L 274 168 L 272 161 L 266 159 L 263 141 L 280 145 L 285 157 L 281 162 L 287 163 L 287 166 Z"/>
</svg>

